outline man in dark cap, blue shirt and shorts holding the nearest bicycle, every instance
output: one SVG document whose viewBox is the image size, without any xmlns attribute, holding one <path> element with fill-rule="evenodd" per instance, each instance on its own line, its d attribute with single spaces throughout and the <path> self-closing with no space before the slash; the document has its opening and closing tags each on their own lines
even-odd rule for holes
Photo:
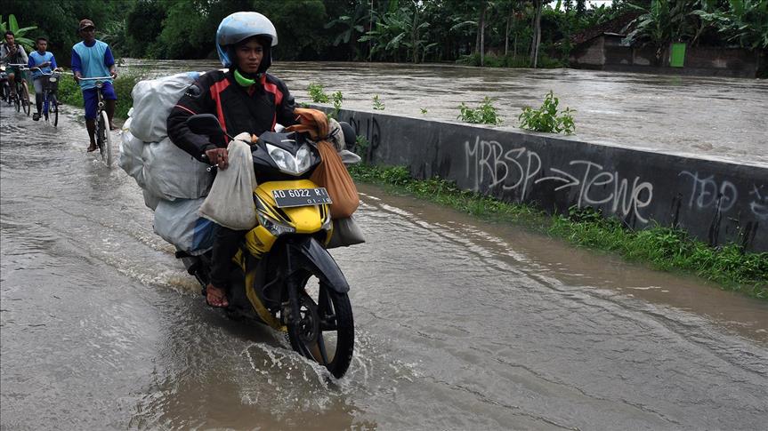
<svg viewBox="0 0 768 431">
<path fill-rule="evenodd" d="M 96 39 L 96 26 L 92 20 L 81 20 L 78 27 L 80 37 L 83 42 L 75 44 L 72 47 L 72 72 L 75 74 L 75 82 L 80 84 L 80 90 L 83 92 L 85 101 L 85 127 L 88 129 L 88 137 L 91 139 L 91 146 L 88 152 L 95 151 L 96 148 L 96 113 L 99 104 L 99 96 L 96 92 L 96 82 L 93 80 L 81 81 L 80 78 L 111 76 L 111 79 L 104 79 L 101 86 L 101 95 L 104 98 L 104 110 L 109 117 L 109 128 L 117 129 L 112 124 L 112 116 L 115 115 L 115 103 L 117 95 L 112 87 L 112 79 L 117 78 L 115 68 L 115 58 L 109 50 L 109 45 Z"/>
</svg>

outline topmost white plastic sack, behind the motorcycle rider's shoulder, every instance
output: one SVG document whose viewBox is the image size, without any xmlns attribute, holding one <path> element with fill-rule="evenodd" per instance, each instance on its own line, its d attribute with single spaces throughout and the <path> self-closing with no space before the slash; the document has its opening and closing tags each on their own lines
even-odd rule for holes
<svg viewBox="0 0 768 431">
<path fill-rule="evenodd" d="M 168 135 L 166 120 L 184 92 L 198 80 L 199 72 L 186 72 L 140 81 L 133 87 L 131 133 L 144 142 L 158 142 Z"/>
</svg>

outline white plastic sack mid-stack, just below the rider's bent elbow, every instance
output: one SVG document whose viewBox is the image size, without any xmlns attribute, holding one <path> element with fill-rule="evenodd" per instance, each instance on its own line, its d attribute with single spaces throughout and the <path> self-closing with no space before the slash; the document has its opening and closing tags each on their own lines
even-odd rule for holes
<svg viewBox="0 0 768 431">
<path fill-rule="evenodd" d="M 144 144 L 144 186 L 152 195 L 173 201 L 197 199 L 208 194 L 213 176 L 207 164 L 178 148 L 170 138 Z M 141 186 L 141 185 L 140 185 Z"/>
</svg>

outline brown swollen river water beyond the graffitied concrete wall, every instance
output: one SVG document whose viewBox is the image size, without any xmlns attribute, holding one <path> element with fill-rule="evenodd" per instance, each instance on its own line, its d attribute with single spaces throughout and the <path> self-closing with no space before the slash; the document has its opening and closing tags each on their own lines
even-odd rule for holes
<svg viewBox="0 0 768 431">
<path fill-rule="evenodd" d="M 219 67 L 217 61 L 125 62 L 125 69 L 153 76 Z M 560 109 L 577 111 L 574 140 L 768 167 L 765 80 L 285 61 L 277 61 L 270 71 L 286 82 L 299 101 L 311 101 L 306 91 L 309 84 L 323 84 L 329 95 L 343 93 L 343 108 L 428 120 L 458 122 L 459 104 L 477 108 L 489 97 L 504 120 L 498 128 L 513 131 L 521 131 L 517 128 L 521 108 L 540 107 L 552 90 Z M 373 109 L 376 95 L 383 111 Z"/>
</svg>

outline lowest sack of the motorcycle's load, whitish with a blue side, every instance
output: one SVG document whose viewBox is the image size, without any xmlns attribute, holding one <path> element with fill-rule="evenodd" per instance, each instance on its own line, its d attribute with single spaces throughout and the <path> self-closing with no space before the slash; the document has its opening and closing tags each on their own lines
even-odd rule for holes
<svg viewBox="0 0 768 431">
<path fill-rule="evenodd" d="M 155 209 L 155 233 L 193 255 L 210 250 L 214 246 L 215 225 L 198 214 L 203 200 L 161 200 Z"/>
</svg>

